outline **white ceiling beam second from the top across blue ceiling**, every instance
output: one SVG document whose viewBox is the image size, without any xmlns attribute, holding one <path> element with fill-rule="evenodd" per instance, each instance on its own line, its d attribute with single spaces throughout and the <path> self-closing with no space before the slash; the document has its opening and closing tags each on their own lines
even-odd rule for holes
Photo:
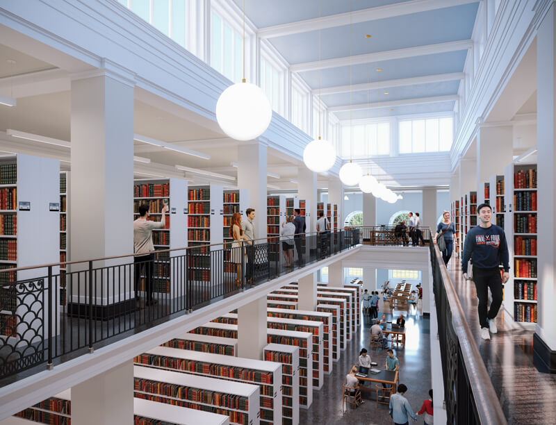
<svg viewBox="0 0 556 425">
<path fill-rule="evenodd" d="M 345 58 L 334 58 L 316 60 L 315 62 L 297 63 L 290 66 L 291 72 L 316 71 L 317 69 L 349 67 L 350 65 L 361 65 L 364 63 L 382 62 L 384 60 L 413 58 L 415 56 L 432 55 L 435 53 L 447 53 L 450 51 L 467 50 L 473 47 L 473 40 L 458 40 L 438 44 L 427 44 L 426 46 L 407 47 L 377 51 L 375 53 L 364 53 L 357 56 L 346 56 Z"/>
</svg>

